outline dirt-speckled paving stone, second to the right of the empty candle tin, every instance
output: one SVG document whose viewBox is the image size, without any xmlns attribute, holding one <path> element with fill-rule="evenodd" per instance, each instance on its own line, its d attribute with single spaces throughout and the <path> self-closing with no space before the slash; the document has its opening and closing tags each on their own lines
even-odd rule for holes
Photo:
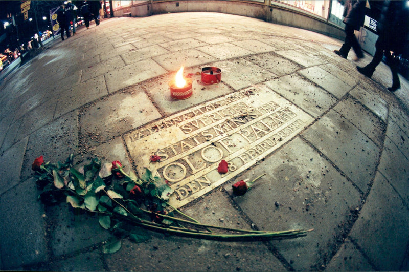
<svg viewBox="0 0 409 272">
<path fill-rule="evenodd" d="M 292 74 L 301 68 L 301 66 L 294 62 L 274 53 L 251 55 L 244 57 L 244 59 L 253 62 L 278 76 Z"/>
</svg>

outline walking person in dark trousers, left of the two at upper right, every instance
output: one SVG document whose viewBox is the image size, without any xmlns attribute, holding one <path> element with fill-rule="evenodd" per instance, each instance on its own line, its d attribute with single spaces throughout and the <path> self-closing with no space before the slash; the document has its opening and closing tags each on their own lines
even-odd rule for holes
<svg viewBox="0 0 409 272">
<path fill-rule="evenodd" d="M 356 54 L 356 60 L 363 58 L 362 48 L 355 37 L 354 31 L 359 30 L 363 26 L 365 20 L 365 6 L 367 1 L 362 0 L 347 0 L 344 7 L 344 20 L 345 23 L 345 42 L 339 50 L 334 50 L 335 54 L 347 58 L 351 47 Z"/>
</svg>

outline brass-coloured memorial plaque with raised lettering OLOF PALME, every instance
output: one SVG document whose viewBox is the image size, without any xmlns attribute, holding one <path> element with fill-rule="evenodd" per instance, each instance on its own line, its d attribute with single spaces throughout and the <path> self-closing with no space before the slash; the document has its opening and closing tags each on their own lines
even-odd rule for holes
<svg viewBox="0 0 409 272">
<path fill-rule="evenodd" d="M 213 190 L 296 136 L 313 118 L 257 85 L 150 123 L 125 135 L 138 168 L 169 181 L 174 207 Z M 151 162 L 149 157 L 161 157 Z M 229 172 L 219 174 L 221 160 Z"/>
</svg>

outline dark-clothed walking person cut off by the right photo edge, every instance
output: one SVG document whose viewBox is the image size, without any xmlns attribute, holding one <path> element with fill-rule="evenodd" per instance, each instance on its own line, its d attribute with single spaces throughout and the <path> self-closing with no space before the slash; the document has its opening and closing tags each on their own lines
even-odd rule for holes
<svg viewBox="0 0 409 272">
<path fill-rule="evenodd" d="M 371 77 L 384 54 L 392 72 L 392 87 L 388 88 L 391 92 L 400 88 L 398 76 L 399 59 L 395 56 L 409 53 L 407 52 L 409 45 L 408 18 L 409 2 L 407 0 L 385 1 L 376 26 L 379 36 L 375 44 L 375 55 L 367 66 L 356 67 L 361 74 Z"/>
</svg>

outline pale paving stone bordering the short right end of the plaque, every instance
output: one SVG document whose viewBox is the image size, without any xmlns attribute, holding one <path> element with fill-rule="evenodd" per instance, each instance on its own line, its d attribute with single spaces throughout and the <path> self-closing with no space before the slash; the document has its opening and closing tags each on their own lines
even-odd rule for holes
<svg viewBox="0 0 409 272">
<path fill-rule="evenodd" d="M 325 90 L 296 74 L 267 81 L 265 85 L 314 117 L 328 111 L 337 101 Z"/>
</svg>

